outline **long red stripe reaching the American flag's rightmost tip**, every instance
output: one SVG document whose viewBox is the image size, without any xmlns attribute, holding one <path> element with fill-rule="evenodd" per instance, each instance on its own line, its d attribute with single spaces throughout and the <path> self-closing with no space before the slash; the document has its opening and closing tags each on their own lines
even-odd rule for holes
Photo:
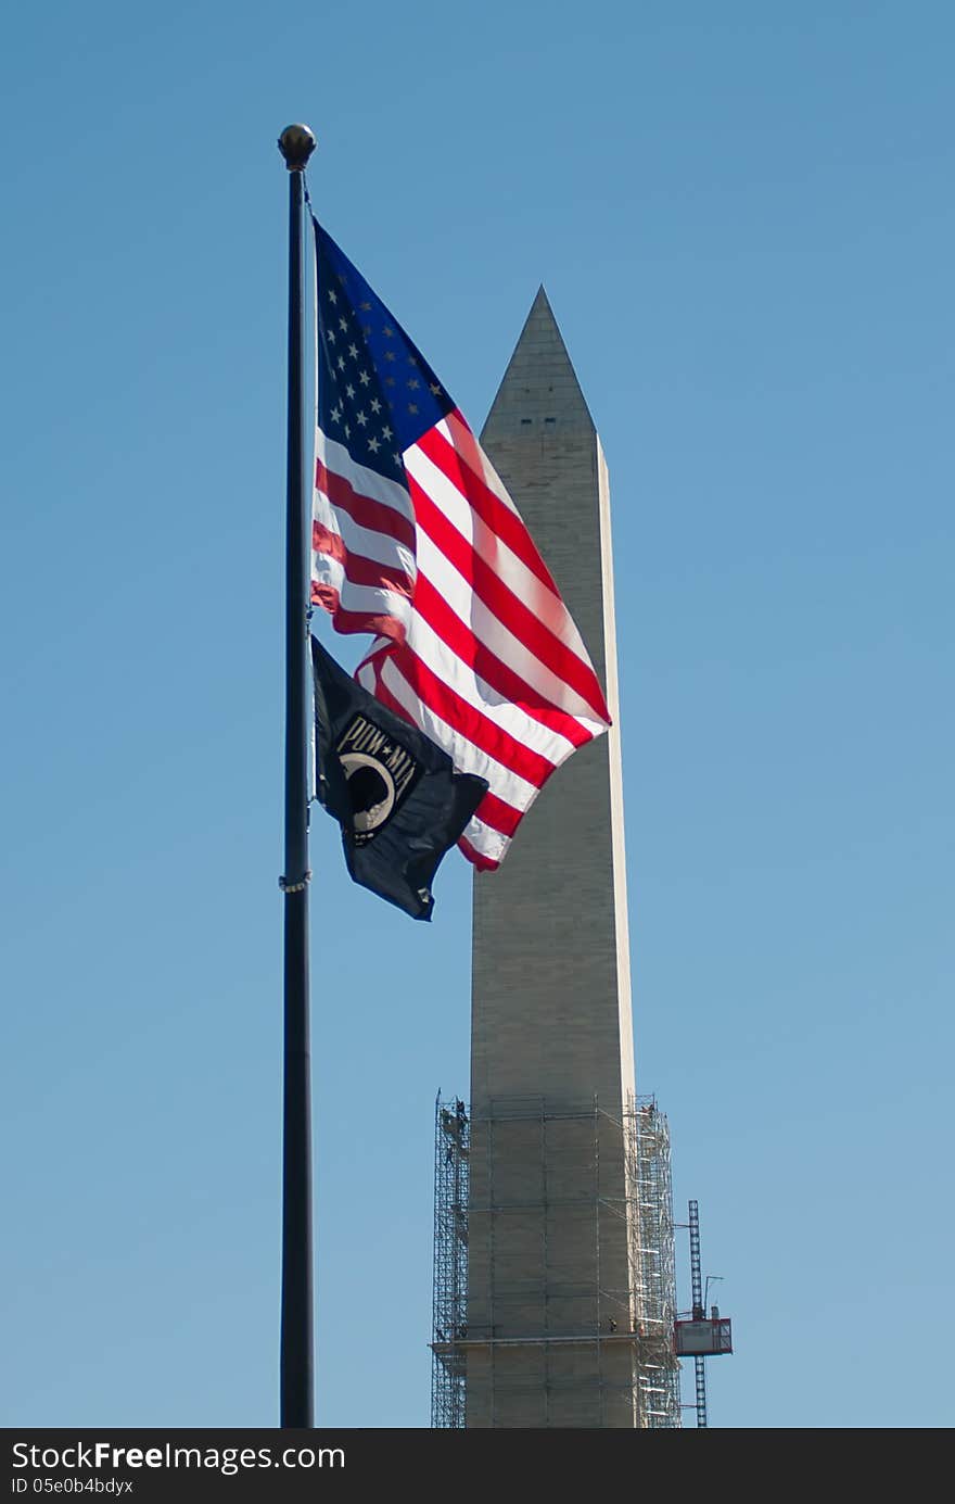
<svg viewBox="0 0 955 1504">
<path fill-rule="evenodd" d="M 475 596 L 495 614 L 513 635 L 541 663 L 544 663 L 559 680 L 568 684 L 594 710 L 599 719 L 609 720 L 608 708 L 597 675 L 581 662 L 532 611 L 510 590 L 493 569 L 484 562 L 480 553 L 462 537 L 444 513 L 435 505 L 427 492 L 408 475 L 411 483 L 415 519 L 418 526 L 427 532 L 435 547 L 454 566 L 459 575 L 471 585 Z"/>
</svg>

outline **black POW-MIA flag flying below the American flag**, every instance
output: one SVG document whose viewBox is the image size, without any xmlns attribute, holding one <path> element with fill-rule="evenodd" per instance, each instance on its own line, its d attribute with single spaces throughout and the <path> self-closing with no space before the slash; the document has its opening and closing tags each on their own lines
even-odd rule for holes
<svg viewBox="0 0 955 1504">
<path fill-rule="evenodd" d="M 311 666 L 316 790 L 341 826 L 347 869 L 412 919 L 430 919 L 438 863 L 487 781 L 456 773 L 447 752 L 356 684 L 316 638 Z"/>
</svg>

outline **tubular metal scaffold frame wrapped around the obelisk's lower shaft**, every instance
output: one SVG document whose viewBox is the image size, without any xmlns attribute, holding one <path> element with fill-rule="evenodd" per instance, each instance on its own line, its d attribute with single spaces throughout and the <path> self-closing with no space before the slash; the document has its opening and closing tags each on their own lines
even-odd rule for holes
<svg viewBox="0 0 955 1504">
<path fill-rule="evenodd" d="M 432 1426 L 466 1426 L 466 1366 L 471 1349 L 502 1346 L 576 1346 L 594 1343 L 603 1391 L 621 1388 L 603 1373 L 606 1346 L 626 1345 L 633 1352 L 633 1381 L 623 1385 L 633 1396 L 635 1423 L 645 1429 L 678 1429 L 680 1366 L 672 1351 L 675 1314 L 674 1220 L 669 1175 L 669 1131 L 666 1117 L 653 1098 L 630 1098 L 623 1122 L 603 1111 L 594 1099 L 578 1110 L 550 1111 L 543 1099 L 495 1102 L 481 1126 L 486 1128 L 492 1158 L 495 1123 L 540 1120 L 541 1161 L 546 1163 L 547 1123 L 576 1119 L 593 1120 L 593 1205 L 596 1322 L 591 1337 L 544 1334 L 535 1337 L 496 1337 L 492 1325 L 484 1331 L 468 1330 L 468 1217 L 471 1185 L 471 1119 L 460 1098 L 438 1096 L 435 1105 L 435 1283 L 432 1336 Z M 626 1196 L 612 1199 L 600 1188 L 600 1128 L 615 1126 L 623 1136 Z M 493 1172 L 492 1172 L 493 1173 Z M 493 1181 L 489 1206 L 475 1214 L 501 1211 L 495 1205 Z M 609 1289 L 600 1277 L 600 1211 L 627 1223 L 629 1287 Z M 492 1220 L 493 1226 L 493 1220 Z M 493 1296 L 492 1296 L 493 1299 Z M 620 1372 L 620 1370 L 618 1370 Z M 492 1414 L 493 1414 L 492 1366 Z M 493 1421 L 492 1421 L 493 1423 Z"/>
</svg>

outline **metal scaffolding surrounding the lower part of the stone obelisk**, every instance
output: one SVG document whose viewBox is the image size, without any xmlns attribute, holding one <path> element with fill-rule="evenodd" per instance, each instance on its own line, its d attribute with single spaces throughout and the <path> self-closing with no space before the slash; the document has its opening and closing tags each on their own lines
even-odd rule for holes
<svg viewBox="0 0 955 1504">
<path fill-rule="evenodd" d="M 623 1120 L 603 1111 L 596 1101 L 579 1104 L 576 1108 L 565 1105 L 561 1111 L 549 1110 L 540 1098 L 496 1101 L 492 1104 L 492 1111 L 475 1122 L 474 1131 L 487 1158 L 487 1167 L 477 1181 L 477 1187 L 481 1188 L 478 1205 L 471 1205 L 474 1142 L 468 1107 L 460 1098 L 444 1101 L 439 1095 L 435 1105 L 432 1426 L 463 1429 L 468 1424 L 469 1357 L 477 1364 L 472 1387 L 483 1384 L 483 1403 L 489 1415 L 484 1420 L 472 1417 L 471 1424 L 507 1424 L 495 1420 L 495 1414 L 501 1414 L 499 1406 L 510 1406 L 513 1414 L 514 1406 L 532 1405 L 534 1381 L 528 1384 L 526 1375 L 523 1379 L 517 1379 L 517 1373 L 510 1379 L 507 1376 L 505 1352 L 514 1354 L 517 1348 L 525 1354 L 531 1349 L 541 1354 L 543 1376 L 537 1388 L 543 1390 L 543 1411 L 541 1418 L 531 1424 L 567 1424 L 558 1418 L 564 1403 L 561 1373 L 567 1361 L 578 1360 L 561 1358 L 561 1352 L 568 1354 L 573 1348 L 579 1354 L 591 1352 L 599 1388 L 599 1417 L 593 1424 L 680 1427 L 680 1369 L 672 1351 L 675 1272 L 669 1133 L 666 1117 L 659 1111 L 656 1101 L 630 1098 Z M 469 1218 L 474 1220 L 474 1236 L 480 1244 L 481 1235 L 490 1235 L 493 1239 L 495 1220 L 507 1217 L 516 1206 L 496 1194 L 493 1175 L 498 1158 L 495 1143 L 508 1131 L 523 1133 L 526 1149 L 531 1148 L 526 1134 L 540 1139 L 541 1187 L 544 1187 L 544 1203 L 538 1208 L 543 1268 L 547 1265 L 544 1206 L 576 1206 L 578 1212 L 585 1215 L 588 1215 L 587 1208 L 591 1208 L 594 1287 L 590 1296 L 585 1296 L 587 1314 L 582 1321 L 561 1322 L 555 1318 L 561 1290 L 553 1284 L 547 1289 L 544 1278 L 541 1290 L 544 1305 L 540 1310 L 526 1304 L 534 1280 L 522 1281 L 514 1290 L 495 1287 L 492 1283 L 490 1307 L 484 1301 L 484 1308 L 475 1308 L 471 1328 L 468 1325 Z M 567 1145 L 565 1152 L 571 1154 L 575 1173 L 581 1176 L 581 1182 L 578 1194 L 570 1200 L 564 1197 L 555 1202 L 553 1187 L 546 1188 L 544 1166 L 550 1164 L 553 1170 L 555 1140 L 559 1143 L 561 1139 Z M 615 1179 L 615 1187 L 623 1190 L 623 1196 L 608 1194 L 608 1184 L 602 1184 L 602 1139 L 605 1158 L 608 1143 L 617 1143 L 618 1152 L 623 1151 L 624 1173 L 620 1178 L 617 1172 Z M 564 1161 L 567 1163 L 570 1161 Z M 522 1202 L 520 1211 L 526 1214 L 528 1209 L 532 1206 Z M 609 1223 L 605 1221 L 608 1217 Z M 621 1233 L 626 1253 L 623 1265 L 614 1263 L 614 1268 L 621 1271 L 614 1277 L 608 1266 L 606 1250 L 602 1259 L 602 1221 L 606 1242 L 608 1232 L 620 1226 L 618 1218 L 624 1223 Z M 611 1242 L 617 1241 L 614 1235 Z M 523 1318 L 516 1336 L 514 1299 L 522 1307 Z M 565 1305 L 565 1311 L 570 1311 L 570 1304 Z M 478 1373 L 484 1378 L 478 1379 Z M 573 1388 L 573 1381 L 567 1382 Z M 481 1408 L 480 1399 L 475 1399 L 477 1393 L 475 1390 L 471 1396 L 475 1415 Z M 526 1400 L 522 1396 L 526 1396 Z M 626 1406 L 623 1412 L 621 1405 Z M 626 1418 L 627 1414 L 630 1420 Z M 617 1418 L 609 1418 L 611 1415 Z"/>
</svg>

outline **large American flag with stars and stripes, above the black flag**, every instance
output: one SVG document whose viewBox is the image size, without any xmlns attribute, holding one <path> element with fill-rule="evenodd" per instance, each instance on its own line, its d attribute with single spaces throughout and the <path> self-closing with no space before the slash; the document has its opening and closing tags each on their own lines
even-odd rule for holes
<svg viewBox="0 0 955 1504">
<path fill-rule="evenodd" d="M 570 754 L 611 722 L 517 508 L 435 371 L 314 223 L 311 600 L 374 635 L 356 680 L 487 793 L 459 845 L 495 868 Z"/>
</svg>

